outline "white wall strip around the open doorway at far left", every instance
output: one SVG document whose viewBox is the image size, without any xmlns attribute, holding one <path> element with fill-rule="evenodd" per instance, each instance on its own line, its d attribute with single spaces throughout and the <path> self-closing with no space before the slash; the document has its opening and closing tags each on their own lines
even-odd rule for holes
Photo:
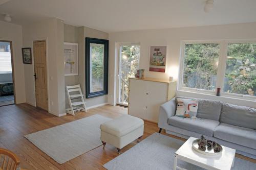
<svg viewBox="0 0 256 170">
<path fill-rule="evenodd" d="M 26 102 L 24 64 L 22 61 L 22 26 L 0 21 L 0 40 L 12 41 L 16 103 Z"/>
</svg>

